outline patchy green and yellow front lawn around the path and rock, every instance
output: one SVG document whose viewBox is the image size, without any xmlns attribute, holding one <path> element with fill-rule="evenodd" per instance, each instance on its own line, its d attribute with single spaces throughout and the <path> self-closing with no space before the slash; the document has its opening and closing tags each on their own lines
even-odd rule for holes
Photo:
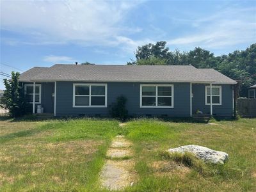
<svg viewBox="0 0 256 192">
<path fill-rule="evenodd" d="M 125 134 L 138 180 L 125 191 L 256 191 L 256 119 L 216 125 L 131 120 L 0 120 L 0 191 L 99 191 L 106 150 Z M 229 155 L 202 171 L 175 163 L 164 150 L 202 145 Z"/>
</svg>

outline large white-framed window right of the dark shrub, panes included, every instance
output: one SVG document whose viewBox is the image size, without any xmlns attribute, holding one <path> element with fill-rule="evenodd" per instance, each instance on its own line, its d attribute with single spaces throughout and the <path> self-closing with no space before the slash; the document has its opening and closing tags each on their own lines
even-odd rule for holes
<svg viewBox="0 0 256 192">
<path fill-rule="evenodd" d="M 173 108 L 173 84 L 141 84 L 140 108 Z"/>
</svg>

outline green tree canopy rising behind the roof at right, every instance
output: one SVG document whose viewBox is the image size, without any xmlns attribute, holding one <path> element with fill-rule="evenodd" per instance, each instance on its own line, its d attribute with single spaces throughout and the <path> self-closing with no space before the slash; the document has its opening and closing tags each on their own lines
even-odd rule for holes
<svg viewBox="0 0 256 192">
<path fill-rule="evenodd" d="M 214 68 L 239 82 L 240 97 L 246 97 L 248 86 L 256 83 L 256 44 L 244 51 L 214 56 L 214 53 L 200 47 L 188 52 L 178 49 L 170 51 L 166 42 L 161 41 L 138 47 L 135 58 L 135 61 L 127 65 L 193 65 L 196 68 Z"/>
</svg>

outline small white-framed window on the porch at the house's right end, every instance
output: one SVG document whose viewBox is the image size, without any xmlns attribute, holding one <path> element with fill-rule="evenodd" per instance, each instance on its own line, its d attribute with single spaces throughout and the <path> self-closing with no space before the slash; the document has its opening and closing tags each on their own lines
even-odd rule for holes
<svg viewBox="0 0 256 192">
<path fill-rule="evenodd" d="M 205 105 L 211 104 L 210 86 L 205 86 Z M 221 86 L 212 86 L 212 105 L 221 105 Z"/>
</svg>

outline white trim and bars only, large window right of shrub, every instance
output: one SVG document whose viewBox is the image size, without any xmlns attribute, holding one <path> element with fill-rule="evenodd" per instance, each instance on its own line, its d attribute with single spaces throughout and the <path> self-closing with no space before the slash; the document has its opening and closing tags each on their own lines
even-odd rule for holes
<svg viewBox="0 0 256 192">
<path fill-rule="evenodd" d="M 157 98 L 158 98 L 158 92 L 157 92 L 157 87 L 158 86 L 170 86 L 172 87 L 172 96 L 159 96 L 159 97 L 172 97 L 172 106 L 142 106 L 142 87 L 143 86 L 156 86 L 156 95 L 151 95 L 151 96 L 145 96 L 145 97 L 156 97 L 156 105 L 157 105 Z M 173 108 L 173 84 L 140 84 L 140 108 Z"/>
</svg>

